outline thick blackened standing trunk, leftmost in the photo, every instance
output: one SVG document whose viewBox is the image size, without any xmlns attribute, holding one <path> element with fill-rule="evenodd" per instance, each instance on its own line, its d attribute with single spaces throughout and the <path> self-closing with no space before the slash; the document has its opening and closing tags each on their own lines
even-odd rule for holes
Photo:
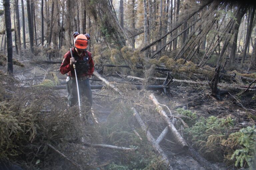
<svg viewBox="0 0 256 170">
<path fill-rule="evenodd" d="M 3 0 L 4 6 L 4 19 L 5 19 L 5 35 L 7 42 L 7 73 L 13 74 L 12 65 L 12 24 L 11 24 L 11 12 L 10 12 L 10 1 Z"/>
</svg>

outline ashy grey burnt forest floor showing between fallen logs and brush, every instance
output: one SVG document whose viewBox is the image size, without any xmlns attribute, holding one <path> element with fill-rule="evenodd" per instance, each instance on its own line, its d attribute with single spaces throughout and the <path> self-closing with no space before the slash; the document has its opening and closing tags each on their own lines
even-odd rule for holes
<svg viewBox="0 0 256 170">
<path fill-rule="evenodd" d="M 43 80 L 45 79 L 53 80 L 54 77 L 58 78 L 58 81 L 60 82 L 60 84 L 65 84 L 66 76 L 60 74 L 59 72 L 60 64 L 29 64 L 26 62 L 24 63 L 25 63 L 24 68 L 20 68 L 17 66 L 14 67 L 14 76 L 18 80 L 20 80 L 22 86 L 31 86 L 31 85 L 40 84 L 42 83 Z M 1 69 L 4 69 L 4 68 L 1 68 Z M 22 71 L 22 70 L 25 70 L 25 71 Z M 124 72 L 129 72 L 129 71 L 127 71 L 126 69 Z M 139 72 L 137 73 L 137 75 L 141 75 L 143 77 L 143 74 Z M 53 75 L 53 73 L 55 75 Z M 128 79 L 121 76 L 121 74 L 122 74 L 121 68 L 105 69 L 103 76 L 110 82 L 113 82 L 113 84 L 117 85 L 118 87 L 125 88 L 126 86 L 122 86 L 124 84 L 128 84 L 129 86 L 132 86 L 132 84 L 143 84 L 143 82 L 140 80 Z M 91 85 L 104 84 L 101 81 L 91 80 L 90 82 L 91 82 Z M 158 85 L 159 83 L 162 84 L 163 82 L 151 81 L 150 83 L 151 85 Z M 59 97 L 61 98 L 65 98 L 67 95 L 66 90 L 55 90 L 55 91 L 60 95 Z M 92 90 L 92 92 L 95 93 L 93 94 L 92 108 L 99 122 L 97 126 L 99 127 L 105 126 L 106 124 L 108 124 L 109 119 L 111 119 L 111 116 L 109 115 L 111 114 L 113 115 L 113 113 L 116 112 L 115 111 L 117 107 L 116 99 L 114 100 L 114 99 L 110 99 L 109 97 L 102 97 L 96 94 L 101 94 L 102 92 L 103 92 L 102 94 L 111 95 L 111 96 L 116 96 L 116 94 L 113 91 L 111 91 L 111 89 L 105 89 L 103 91 Z M 240 93 L 241 90 L 233 90 L 229 92 L 230 94 L 235 96 L 235 94 Z M 137 96 L 135 97 L 140 96 L 141 98 L 143 98 L 144 93 L 141 95 L 140 93 L 141 91 L 139 90 L 134 90 L 132 92 L 132 94 L 137 94 Z M 177 108 L 185 108 L 187 110 L 192 111 L 193 113 L 196 113 L 198 119 L 200 117 L 209 118 L 210 116 L 215 116 L 219 119 L 221 118 L 225 119 L 227 117 L 230 117 L 234 120 L 234 126 L 232 127 L 229 133 L 239 131 L 239 129 L 245 128 L 248 126 L 255 126 L 256 113 L 253 111 L 244 109 L 244 108 L 252 109 L 252 110 L 256 109 L 256 102 L 255 100 L 252 100 L 252 97 L 255 92 L 248 91 L 245 94 L 241 95 L 241 97 L 239 98 L 239 101 L 241 102 L 244 108 L 242 108 L 241 105 L 238 103 L 238 101 L 234 99 L 234 97 L 231 96 L 230 94 L 222 96 L 222 100 L 217 100 L 216 98 L 211 96 L 211 91 L 207 85 L 193 85 L 193 84 L 185 84 L 185 83 L 181 84 L 177 82 L 171 82 L 167 90 L 167 94 L 159 90 L 148 91 L 147 93 L 153 93 L 157 98 L 158 102 L 161 103 L 163 106 L 165 106 L 164 109 L 166 113 L 170 115 L 176 114 Z M 136 104 L 135 105 L 138 106 L 139 108 L 143 104 L 145 104 L 146 106 L 149 105 L 148 109 L 151 110 L 151 113 L 155 112 L 154 113 L 155 115 L 146 116 L 146 118 L 148 118 L 148 120 L 146 120 L 146 123 L 150 126 L 152 123 L 156 123 L 155 125 L 152 126 L 152 128 L 150 128 L 150 130 L 152 134 L 157 137 L 159 132 L 161 132 L 161 129 L 163 130 L 164 125 L 162 123 L 159 123 L 158 119 L 161 119 L 161 118 L 159 118 L 160 116 L 157 115 L 156 110 L 152 109 L 153 103 L 149 104 L 147 102 L 148 100 L 145 100 L 145 103 L 140 102 L 140 103 L 137 103 L 137 105 Z M 59 107 L 66 108 L 67 106 L 59 106 Z M 141 110 L 145 110 L 145 109 L 141 109 Z M 169 111 L 171 111 L 171 113 Z M 155 121 L 154 119 L 157 119 L 157 121 Z M 113 122 L 115 121 L 112 121 L 112 123 Z M 120 122 L 116 122 L 116 123 L 120 124 Z M 114 125 L 111 125 L 111 126 L 114 126 Z M 181 128 L 178 130 L 182 136 L 183 136 L 183 128 L 184 127 L 181 126 Z M 109 135 L 106 135 L 106 136 L 109 137 Z M 101 136 L 101 138 L 102 138 L 101 142 L 103 143 L 109 143 L 111 141 L 110 139 L 104 139 L 104 136 Z M 189 145 L 193 145 L 193 144 L 189 142 Z M 195 159 L 193 159 L 190 155 L 188 155 L 186 151 L 183 151 L 177 144 L 175 144 L 175 141 L 172 139 L 172 136 L 166 135 L 166 138 L 161 143 L 161 146 L 163 147 L 163 150 L 167 153 L 173 169 L 180 169 L 180 170 L 206 169 L 205 167 L 200 165 Z M 103 149 L 103 148 L 98 149 L 97 152 L 100 153 L 98 154 L 97 158 L 98 160 L 101 160 L 102 163 L 115 162 L 115 159 L 120 161 L 120 155 L 121 155 L 120 153 L 116 153 L 112 151 L 110 152 L 108 149 Z M 145 154 L 148 154 L 148 153 L 145 153 Z M 122 159 L 125 159 L 125 158 L 122 158 Z M 216 161 L 211 161 L 211 163 L 213 163 L 213 166 L 216 166 L 219 169 L 223 169 L 223 170 L 227 169 L 227 165 L 225 165 L 224 163 L 216 162 Z M 99 165 L 101 164 L 101 162 L 97 162 L 96 164 Z M 107 165 L 108 164 L 106 164 L 105 166 Z M 100 167 L 100 168 L 102 169 L 103 167 Z"/>
</svg>

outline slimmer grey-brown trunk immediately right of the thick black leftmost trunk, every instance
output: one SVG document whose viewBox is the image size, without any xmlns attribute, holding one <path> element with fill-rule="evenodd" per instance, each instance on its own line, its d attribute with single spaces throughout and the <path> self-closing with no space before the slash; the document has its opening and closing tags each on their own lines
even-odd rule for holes
<svg viewBox="0 0 256 170">
<path fill-rule="evenodd" d="M 17 39 L 17 46 L 19 51 L 19 60 L 22 60 L 21 54 L 21 39 L 20 39 L 20 14 L 19 14 L 19 6 L 18 0 L 14 0 L 14 10 L 15 10 L 15 32 L 16 32 L 16 39 Z"/>
</svg>

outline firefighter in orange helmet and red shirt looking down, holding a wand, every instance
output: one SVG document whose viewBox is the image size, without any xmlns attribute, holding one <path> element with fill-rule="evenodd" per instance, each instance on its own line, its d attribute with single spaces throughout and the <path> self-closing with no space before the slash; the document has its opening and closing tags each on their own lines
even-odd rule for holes
<svg viewBox="0 0 256 170">
<path fill-rule="evenodd" d="M 86 108 L 86 112 L 88 112 L 91 111 L 92 107 L 92 91 L 89 78 L 94 71 L 92 55 L 86 50 L 88 48 L 90 35 L 75 32 L 73 37 L 74 47 L 64 55 L 60 72 L 61 74 L 67 74 L 66 87 L 68 91 L 68 105 L 72 107 L 78 103 L 76 76 L 73 66 L 75 65 L 79 95 L 82 103 L 81 108 Z M 73 58 L 71 57 L 71 52 L 73 53 Z"/>
</svg>

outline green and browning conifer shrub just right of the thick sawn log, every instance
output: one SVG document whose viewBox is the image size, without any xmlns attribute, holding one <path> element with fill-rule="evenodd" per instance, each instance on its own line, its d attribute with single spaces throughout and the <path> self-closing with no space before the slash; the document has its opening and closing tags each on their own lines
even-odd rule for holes
<svg viewBox="0 0 256 170">
<path fill-rule="evenodd" d="M 199 153 L 208 160 L 222 161 L 224 150 L 221 142 L 226 138 L 234 120 L 230 117 L 219 119 L 211 116 L 207 119 L 201 117 L 198 122 L 186 131 Z"/>
</svg>

